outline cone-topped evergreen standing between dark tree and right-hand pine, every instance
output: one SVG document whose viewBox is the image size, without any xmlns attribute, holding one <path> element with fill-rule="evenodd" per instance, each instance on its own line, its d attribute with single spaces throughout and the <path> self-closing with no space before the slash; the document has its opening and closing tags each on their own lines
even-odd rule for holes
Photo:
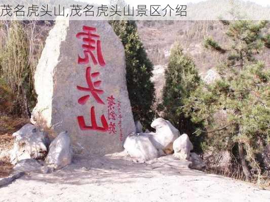
<svg viewBox="0 0 270 202">
<path fill-rule="evenodd" d="M 188 133 L 190 135 L 194 125 L 182 111 L 183 99 L 189 97 L 190 93 L 197 88 L 200 77 L 194 62 L 183 54 L 179 42 L 176 42 L 171 49 L 165 79 L 161 110 L 164 112 L 165 118 L 172 122 L 181 134 Z"/>
</svg>

